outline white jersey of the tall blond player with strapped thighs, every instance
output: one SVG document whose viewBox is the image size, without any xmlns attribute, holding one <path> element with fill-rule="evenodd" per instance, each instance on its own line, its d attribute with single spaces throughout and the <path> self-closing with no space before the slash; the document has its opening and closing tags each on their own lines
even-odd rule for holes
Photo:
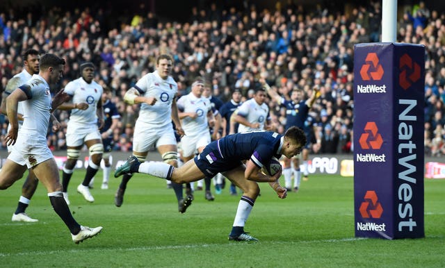
<svg viewBox="0 0 445 268">
<path fill-rule="evenodd" d="M 156 98 L 153 106 L 147 103 L 140 105 L 138 121 L 154 124 L 156 127 L 172 124 L 172 101 L 178 91 L 178 85 L 171 76 L 164 80 L 158 71 L 154 71 L 140 78 L 134 88 L 143 97 Z"/>
</svg>

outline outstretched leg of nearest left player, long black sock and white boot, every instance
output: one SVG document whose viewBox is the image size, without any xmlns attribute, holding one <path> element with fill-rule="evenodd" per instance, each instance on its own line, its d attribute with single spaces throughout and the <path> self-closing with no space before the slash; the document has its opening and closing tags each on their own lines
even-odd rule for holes
<svg viewBox="0 0 445 268">
<path fill-rule="evenodd" d="M 47 188 L 49 201 L 54 211 L 63 220 L 67 228 L 70 229 L 72 240 L 78 244 L 83 240 L 93 237 L 102 231 L 102 226 L 96 228 L 88 228 L 81 226 L 72 217 L 70 208 L 68 207 L 62 194 L 62 185 L 60 184 L 58 167 L 54 158 L 49 158 L 40 162 L 33 167 L 35 175 L 40 179 L 44 187 Z"/>
</svg>

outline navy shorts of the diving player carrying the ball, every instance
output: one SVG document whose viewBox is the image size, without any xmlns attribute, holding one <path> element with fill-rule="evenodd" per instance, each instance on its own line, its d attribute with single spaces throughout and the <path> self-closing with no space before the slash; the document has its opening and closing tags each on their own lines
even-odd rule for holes
<svg viewBox="0 0 445 268">
<path fill-rule="evenodd" d="M 223 158 L 218 150 L 218 140 L 207 145 L 202 153 L 194 158 L 194 161 L 202 173 L 209 178 L 243 165 L 241 160 Z"/>
</svg>

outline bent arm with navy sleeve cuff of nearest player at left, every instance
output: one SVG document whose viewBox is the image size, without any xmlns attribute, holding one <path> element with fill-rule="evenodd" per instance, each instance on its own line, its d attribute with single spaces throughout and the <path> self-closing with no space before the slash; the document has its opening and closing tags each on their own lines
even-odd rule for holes
<svg viewBox="0 0 445 268">
<path fill-rule="evenodd" d="M 17 119 L 17 106 L 19 101 L 26 101 L 31 99 L 31 87 L 29 85 L 22 85 L 22 88 L 17 88 L 6 98 L 6 114 L 8 115 L 9 124 L 11 125 L 8 134 L 6 135 L 6 144 L 13 145 L 17 140 L 17 133 L 19 132 L 19 121 Z"/>
</svg>

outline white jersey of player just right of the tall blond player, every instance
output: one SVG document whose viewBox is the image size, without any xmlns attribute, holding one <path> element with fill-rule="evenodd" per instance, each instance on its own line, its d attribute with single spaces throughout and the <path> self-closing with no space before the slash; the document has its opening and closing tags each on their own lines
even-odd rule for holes
<svg viewBox="0 0 445 268">
<path fill-rule="evenodd" d="M 197 98 L 192 92 L 179 98 L 177 101 L 178 110 L 181 112 L 196 112 L 197 117 L 184 117 L 182 119 L 182 128 L 187 135 L 201 135 L 209 133 L 209 122 L 207 113 L 211 110 L 209 99 Z"/>
</svg>

